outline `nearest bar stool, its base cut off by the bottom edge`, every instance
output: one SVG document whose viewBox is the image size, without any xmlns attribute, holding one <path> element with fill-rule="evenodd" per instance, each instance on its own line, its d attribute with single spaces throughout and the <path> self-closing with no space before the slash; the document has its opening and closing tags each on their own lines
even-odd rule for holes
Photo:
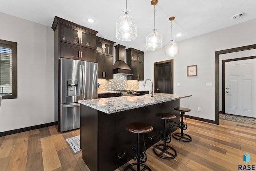
<svg viewBox="0 0 256 171">
<path fill-rule="evenodd" d="M 147 166 L 144 165 L 142 163 L 140 163 L 140 158 L 141 158 L 141 153 L 140 153 L 140 134 L 142 133 L 148 133 L 151 132 L 153 130 L 153 127 L 151 125 L 149 125 L 148 123 L 144 123 L 144 122 L 133 122 L 133 123 L 129 123 L 128 125 L 126 125 L 126 129 L 132 133 L 137 133 L 137 146 L 136 146 L 136 156 L 134 157 L 134 160 L 137 159 L 137 163 L 132 163 L 128 166 L 126 166 L 126 168 L 124 169 L 124 171 L 126 171 L 127 169 L 131 169 L 132 171 L 140 171 L 140 166 L 143 166 L 142 171 L 144 170 L 149 170 L 151 171 L 151 169 Z M 144 143 L 145 146 L 145 143 Z M 146 147 L 145 147 L 145 153 L 146 153 Z M 146 161 L 144 161 L 146 162 Z M 132 166 L 137 165 L 137 170 L 133 169 Z"/>
</svg>

